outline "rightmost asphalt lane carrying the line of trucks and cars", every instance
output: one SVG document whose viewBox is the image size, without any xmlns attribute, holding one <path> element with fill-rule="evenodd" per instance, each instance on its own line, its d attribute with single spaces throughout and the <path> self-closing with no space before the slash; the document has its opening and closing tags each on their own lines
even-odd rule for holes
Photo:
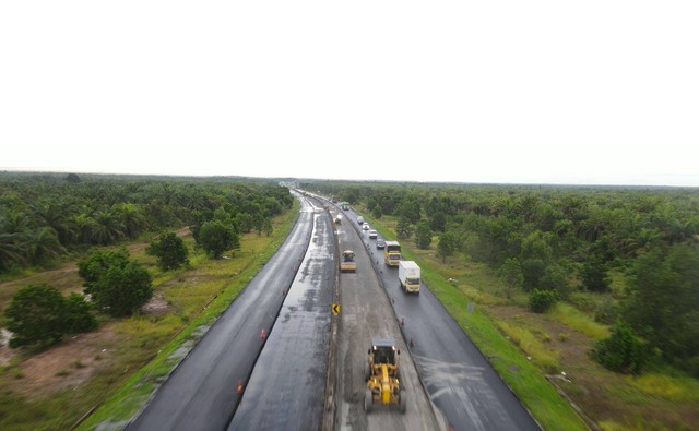
<svg viewBox="0 0 699 431">
<path fill-rule="evenodd" d="M 356 231 L 356 214 L 346 212 Z M 540 430 L 519 399 L 484 358 L 461 326 L 424 284 L 419 295 L 405 294 L 398 268 L 383 263 L 376 240 L 363 236 L 372 255 L 402 332 L 434 404 L 453 430 Z"/>
</svg>

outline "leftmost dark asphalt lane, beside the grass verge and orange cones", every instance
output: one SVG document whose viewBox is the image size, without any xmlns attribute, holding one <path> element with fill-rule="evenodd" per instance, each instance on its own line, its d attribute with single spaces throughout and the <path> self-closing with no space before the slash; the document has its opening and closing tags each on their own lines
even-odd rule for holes
<svg viewBox="0 0 699 431">
<path fill-rule="evenodd" d="M 300 199 L 298 222 L 232 306 L 209 328 L 129 430 L 225 430 L 309 244 L 313 207 Z"/>
</svg>

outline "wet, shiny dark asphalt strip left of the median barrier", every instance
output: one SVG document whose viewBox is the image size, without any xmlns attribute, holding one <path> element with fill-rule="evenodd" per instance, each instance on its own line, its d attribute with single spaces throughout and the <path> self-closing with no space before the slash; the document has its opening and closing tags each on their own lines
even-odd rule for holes
<svg viewBox="0 0 699 431">
<path fill-rule="evenodd" d="M 320 430 L 337 264 L 328 212 L 313 215 L 311 243 L 228 430 Z"/>
</svg>

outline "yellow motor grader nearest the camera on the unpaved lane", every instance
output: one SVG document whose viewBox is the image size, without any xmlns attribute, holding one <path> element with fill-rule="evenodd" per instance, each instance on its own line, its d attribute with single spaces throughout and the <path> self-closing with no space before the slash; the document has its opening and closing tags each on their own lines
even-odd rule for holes
<svg viewBox="0 0 699 431">
<path fill-rule="evenodd" d="M 405 392 L 401 386 L 399 362 L 401 350 L 393 338 L 371 338 L 367 363 L 367 390 L 364 409 L 369 412 L 376 405 L 398 407 L 405 412 Z"/>
</svg>

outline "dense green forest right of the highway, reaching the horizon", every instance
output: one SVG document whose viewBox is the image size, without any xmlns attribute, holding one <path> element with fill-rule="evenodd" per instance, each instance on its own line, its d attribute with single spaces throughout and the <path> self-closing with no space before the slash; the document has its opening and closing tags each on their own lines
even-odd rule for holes
<svg viewBox="0 0 699 431">
<path fill-rule="evenodd" d="M 593 306 L 613 325 L 599 345 L 607 368 L 647 361 L 699 376 L 699 191 L 674 188 L 312 182 L 371 216 L 398 217 L 396 236 L 445 259 L 463 253 L 505 274 L 534 311 L 576 291 L 625 289 Z M 617 351 L 607 351 L 616 343 Z M 638 345 L 633 345 L 637 343 Z M 633 347 L 633 346 L 636 347 Z M 631 347 L 629 347 L 631 346 Z M 621 350 L 621 351 L 619 351 Z M 626 358 L 620 358 L 619 355 Z"/>
</svg>

